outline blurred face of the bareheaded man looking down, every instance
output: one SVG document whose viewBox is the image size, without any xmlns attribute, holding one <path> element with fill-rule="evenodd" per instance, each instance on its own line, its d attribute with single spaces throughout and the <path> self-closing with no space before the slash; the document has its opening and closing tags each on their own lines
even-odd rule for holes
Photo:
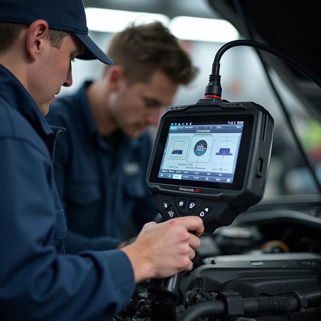
<svg viewBox="0 0 321 321">
<path fill-rule="evenodd" d="M 136 82 L 128 86 L 125 80 L 111 100 L 109 112 L 124 134 L 137 137 L 146 126 L 158 124 L 177 88 L 178 83 L 159 70 L 152 74 L 148 83 Z"/>
</svg>

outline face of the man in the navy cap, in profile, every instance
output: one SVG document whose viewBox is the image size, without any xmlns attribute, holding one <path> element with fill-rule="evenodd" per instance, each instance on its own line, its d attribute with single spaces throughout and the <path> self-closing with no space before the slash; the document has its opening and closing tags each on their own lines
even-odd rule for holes
<svg viewBox="0 0 321 321">
<path fill-rule="evenodd" d="M 31 68 L 28 90 L 42 115 L 48 113 L 49 105 L 56 100 L 55 95 L 61 86 L 71 86 L 71 61 L 81 51 L 81 46 L 71 34 L 62 39 L 59 49 L 52 47 L 49 39 L 45 41 L 41 56 L 34 62 L 36 68 Z"/>
</svg>

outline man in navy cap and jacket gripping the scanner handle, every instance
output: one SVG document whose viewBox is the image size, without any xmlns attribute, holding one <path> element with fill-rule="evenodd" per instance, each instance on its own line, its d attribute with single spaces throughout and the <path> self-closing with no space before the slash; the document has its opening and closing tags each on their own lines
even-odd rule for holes
<svg viewBox="0 0 321 321">
<path fill-rule="evenodd" d="M 0 0 L 0 314 L 2 320 L 105 320 L 135 282 L 192 268 L 198 217 L 147 223 L 121 250 L 65 255 L 64 211 L 52 162 L 57 136 L 43 115 L 71 60 L 111 63 L 89 39 L 82 0 Z M 59 137 L 58 137 L 59 139 Z"/>
</svg>

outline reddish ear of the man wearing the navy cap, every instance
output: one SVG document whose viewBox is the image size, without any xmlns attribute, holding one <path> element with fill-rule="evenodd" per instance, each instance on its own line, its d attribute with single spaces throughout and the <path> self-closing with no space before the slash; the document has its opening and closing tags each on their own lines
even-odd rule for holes
<svg viewBox="0 0 321 321">
<path fill-rule="evenodd" d="M 26 49 L 31 60 L 35 60 L 48 37 L 49 26 L 47 21 L 39 19 L 32 22 L 27 32 Z"/>
</svg>

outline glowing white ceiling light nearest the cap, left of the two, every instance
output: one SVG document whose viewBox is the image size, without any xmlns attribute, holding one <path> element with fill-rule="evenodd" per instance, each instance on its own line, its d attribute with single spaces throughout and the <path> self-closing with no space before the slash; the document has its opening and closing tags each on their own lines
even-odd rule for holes
<svg viewBox="0 0 321 321">
<path fill-rule="evenodd" d="M 68 1 L 68 0 L 66 0 Z M 87 26 L 89 30 L 101 32 L 119 32 L 124 30 L 130 23 L 151 23 L 160 21 L 168 26 L 169 17 L 164 14 L 134 12 L 124 10 L 112 10 L 102 8 L 85 8 Z"/>
</svg>

